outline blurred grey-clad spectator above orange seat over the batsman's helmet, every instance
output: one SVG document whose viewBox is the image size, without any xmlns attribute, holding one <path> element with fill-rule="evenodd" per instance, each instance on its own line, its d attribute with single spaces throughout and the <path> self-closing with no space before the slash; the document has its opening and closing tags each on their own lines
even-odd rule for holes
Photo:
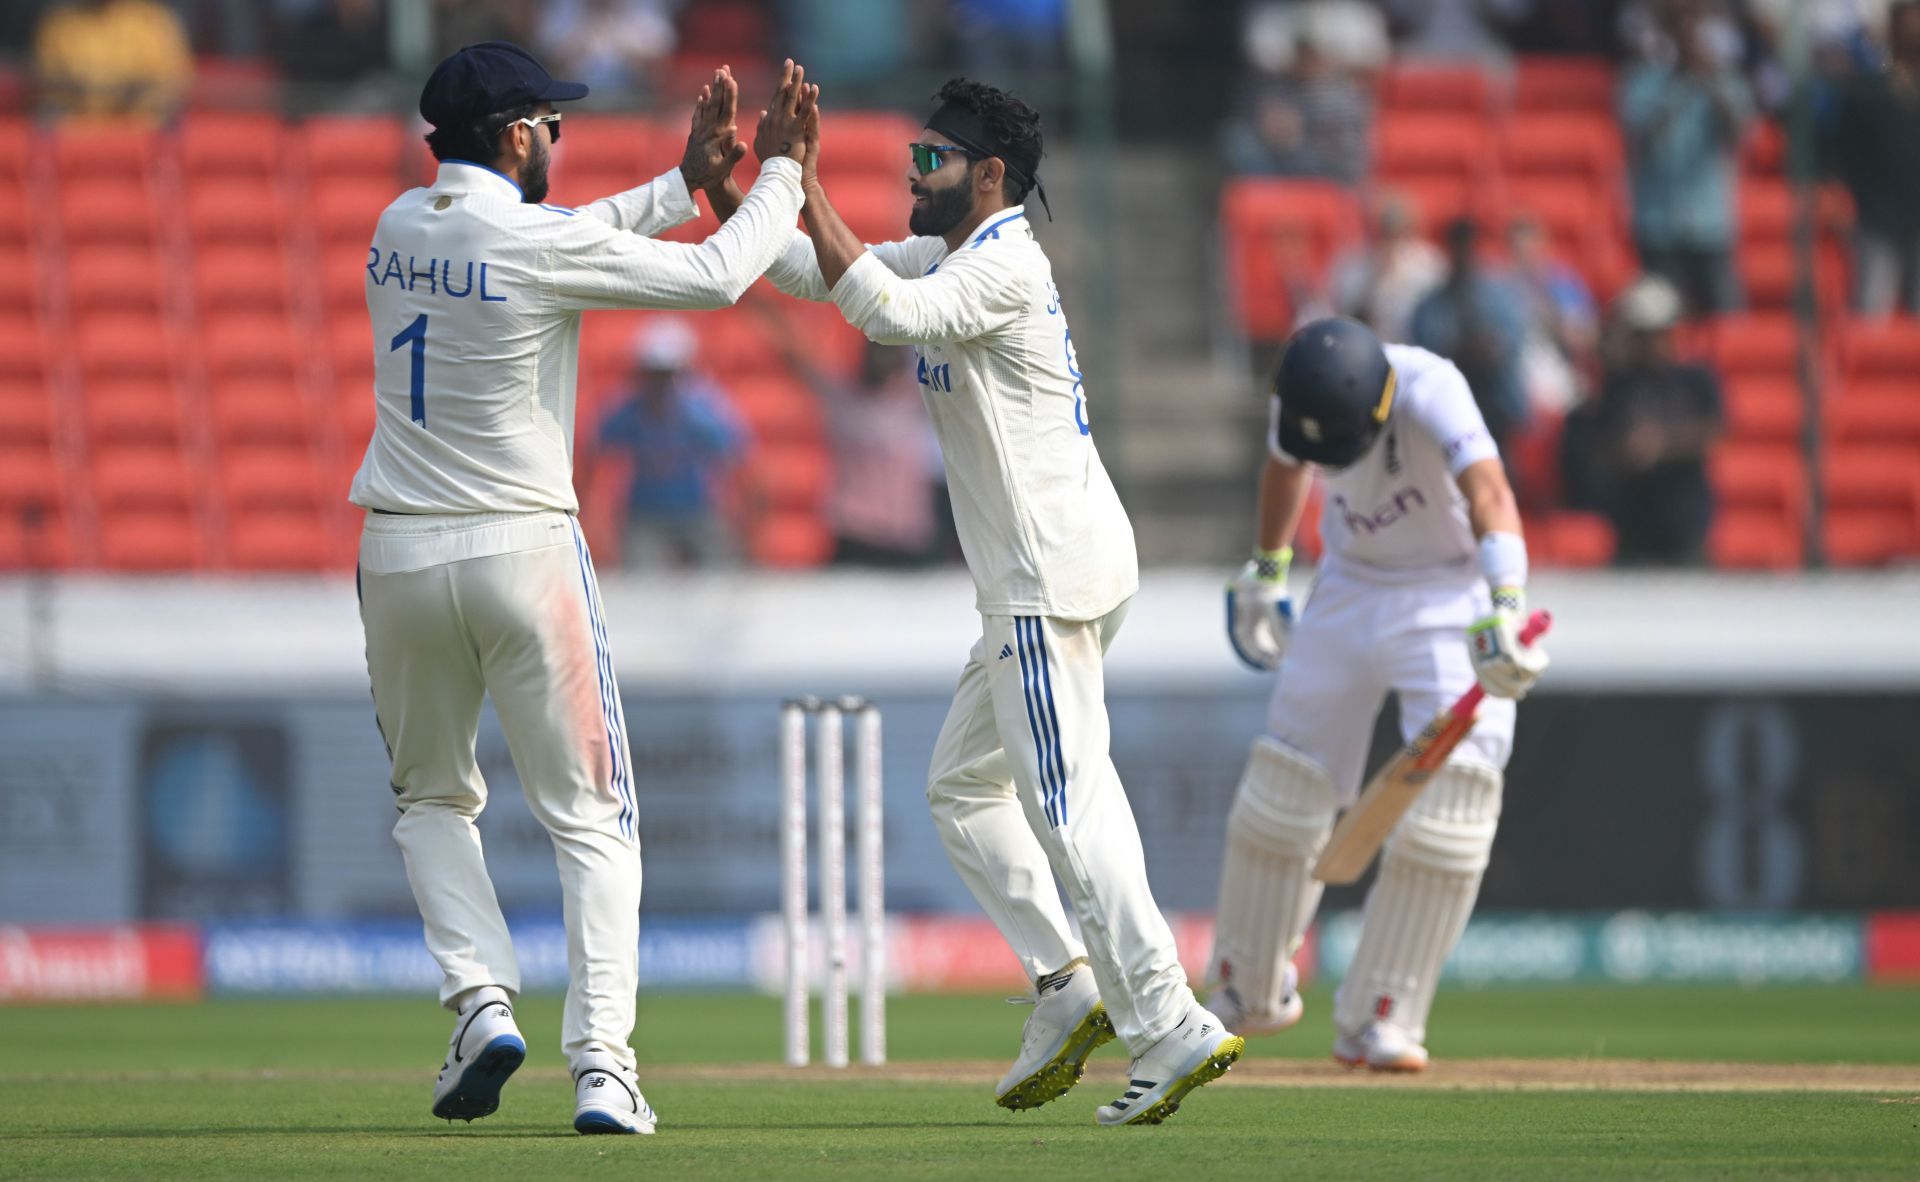
<svg viewBox="0 0 1920 1182">
<path fill-rule="evenodd" d="M 1332 31 L 1304 15 L 1311 13 L 1290 6 L 1263 6 L 1250 15 L 1246 52 L 1254 73 L 1227 121 L 1227 163 L 1260 177 L 1357 184 L 1367 175 L 1373 94 L 1350 63 L 1329 52 Z"/>
</svg>

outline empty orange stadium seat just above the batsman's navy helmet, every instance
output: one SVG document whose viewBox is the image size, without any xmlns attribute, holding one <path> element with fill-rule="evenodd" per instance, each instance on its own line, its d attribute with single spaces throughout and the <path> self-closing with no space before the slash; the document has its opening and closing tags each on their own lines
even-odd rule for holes
<svg viewBox="0 0 1920 1182">
<path fill-rule="evenodd" d="M 1221 230 L 1242 328 L 1279 340 L 1294 317 L 1288 274 L 1319 282 L 1329 259 L 1359 240 L 1359 201 L 1325 180 L 1229 180 Z"/>
</svg>

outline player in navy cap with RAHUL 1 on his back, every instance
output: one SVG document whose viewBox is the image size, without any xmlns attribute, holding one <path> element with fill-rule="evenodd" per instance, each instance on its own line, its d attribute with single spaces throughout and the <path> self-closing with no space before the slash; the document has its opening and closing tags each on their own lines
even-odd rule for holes
<svg viewBox="0 0 1920 1182">
<path fill-rule="evenodd" d="M 574 366 L 588 309 L 733 303 L 785 248 L 801 211 L 803 109 L 789 79 L 762 121 L 760 180 L 697 246 L 653 242 L 695 217 L 687 180 L 730 169 L 733 83 L 716 73 L 682 169 L 582 209 L 543 205 L 553 83 L 516 46 L 461 50 L 420 109 L 442 159 L 380 215 L 367 253 L 374 330 L 372 443 L 351 501 L 369 510 L 361 620 L 399 842 L 461 1013 L 434 1113 L 492 1113 L 524 1042 L 507 923 L 474 819 L 482 695 L 493 700 L 528 808 L 553 839 L 564 900 L 563 1046 L 580 1132 L 653 1132 L 634 1080 L 639 835 L 620 687 L 599 587 L 574 520 Z M 791 144 L 791 157 L 778 155 Z"/>
</svg>

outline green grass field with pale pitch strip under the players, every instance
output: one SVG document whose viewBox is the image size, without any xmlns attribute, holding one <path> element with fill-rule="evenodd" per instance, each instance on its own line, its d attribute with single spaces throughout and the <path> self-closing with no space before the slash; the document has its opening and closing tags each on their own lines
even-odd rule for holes
<svg viewBox="0 0 1920 1182">
<path fill-rule="evenodd" d="M 1091 1124 L 1117 1048 L 1062 1101 L 993 1105 L 1025 1013 L 996 998 L 895 998 L 893 1065 L 837 1075 L 772 1065 L 772 998 L 647 996 L 653 1138 L 574 1136 L 559 1000 L 518 1009 L 501 1111 L 447 1126 L 428 1000 L 0 1007 L 0 1178 L 1920 1176 L 1920 990 L 1453 990 L 1411 1080 L 1327 1065 L 1309 994 L 1173 1121 L 1119 1130 Z"/>
</svg>

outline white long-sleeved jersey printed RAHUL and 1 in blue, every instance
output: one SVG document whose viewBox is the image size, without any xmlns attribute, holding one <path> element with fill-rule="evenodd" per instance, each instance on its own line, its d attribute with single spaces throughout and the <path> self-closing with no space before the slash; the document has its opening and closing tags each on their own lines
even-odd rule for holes
<svg viewBox="0 0 1920 1182">
<path fill-rule="evenodd" d="M 493 169 L 444 161 L 367 251 L 374 432 L 349 499 L 411 514 L 574 512 L 574 378 L 586 309 L 726 307 L 793 234 L 801 167 L 772 159 L 701 244 L 680 171 L 580 209 L 528 205 Z M 472 555 L 468 555 L 472 556 Z"/>
</svg>

